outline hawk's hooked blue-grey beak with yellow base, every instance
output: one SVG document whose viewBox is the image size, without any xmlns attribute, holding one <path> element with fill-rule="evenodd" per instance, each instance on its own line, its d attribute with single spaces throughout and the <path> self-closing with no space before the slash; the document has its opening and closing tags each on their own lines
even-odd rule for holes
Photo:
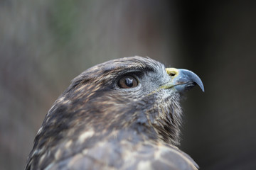
<svg viewBox="0 0 256 170">
<path fill-rule="evenodd" d="M 182 93 L 192 89 L 196 84 L 198 84 L 204 92 L 203 82 L 195 73 L 187 69 L 175 68 L 166 68 L 166 72 L 171 77 L 171 81 L 164 84 L 164 89 L 175 88 L 177 91 Z"/>
</svg>

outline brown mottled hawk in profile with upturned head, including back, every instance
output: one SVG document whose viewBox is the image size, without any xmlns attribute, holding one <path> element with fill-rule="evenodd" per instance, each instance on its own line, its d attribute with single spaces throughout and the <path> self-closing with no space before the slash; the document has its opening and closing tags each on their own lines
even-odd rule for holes
<svg viewBox="0 0 256 170">
<path fill-rule="evenodd" d="M 198 169 L 182 152 L 180 98 L 201 79 L 149 57 L 87 69 L 55 101 L 26 169 Z"/>
</svg>

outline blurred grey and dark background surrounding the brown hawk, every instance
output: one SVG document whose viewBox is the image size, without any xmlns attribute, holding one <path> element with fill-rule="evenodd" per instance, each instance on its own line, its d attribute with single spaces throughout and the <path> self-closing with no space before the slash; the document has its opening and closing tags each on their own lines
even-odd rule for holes
<svg viewBox="0 0 256 170">
<path fill-rule="evenodd" d="M 0 169 L 23 169 L 80 72 L 149 56 L 196 72 L 181 149 L 201 169 L 256 169 L 256 1 L 1 0 Z"/>
</svg>

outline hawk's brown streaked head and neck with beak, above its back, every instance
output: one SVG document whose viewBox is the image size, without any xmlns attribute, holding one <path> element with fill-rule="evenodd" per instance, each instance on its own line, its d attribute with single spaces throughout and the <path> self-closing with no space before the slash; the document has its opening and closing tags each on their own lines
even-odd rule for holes
<svg viewBox="0 0 256 170">
<path fill-rule="evenodd" d="M 178 145 L 181 94 L 196 84 L 203 90 L 193 72 L 165 68 L 145 57 L 91 67 L 73 79 L 50 108 L 27 167 L 33 162 L 46 167 L 50 158 L 70 157 L 102 140 Z M 66 149 L 61 156 L 56 155 L 60 148 Z"/>
</svg>

